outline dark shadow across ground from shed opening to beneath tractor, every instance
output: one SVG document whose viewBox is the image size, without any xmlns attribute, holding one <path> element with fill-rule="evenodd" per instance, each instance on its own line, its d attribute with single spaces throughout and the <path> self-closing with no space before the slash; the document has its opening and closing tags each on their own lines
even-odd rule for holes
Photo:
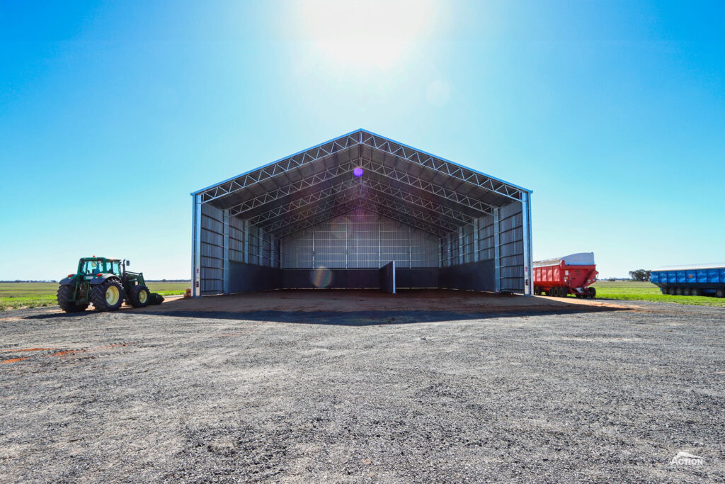
<svg viewBox="0 0 725 484">
<path fill-rule="evenodd" d="M 173 300 L 160 306 L 122 308 L 119 315 L 139 314 L 191 319 L 229 319 L 303 324 L 368 326 L 434 321 L 465 321 L 550 314 L 622 311 L 617 305 L 577 302 L 570 298 L 452 290 L 410 290 L 391 295 L 375 290 L 284 290 L 214 295 Z M 25 319 L 104 317 L 97 311 L 42 312 Z M 94 316 L 95 315 L 95 316 Z M 20 315 L 19 315 L 20 316 Z"/>
</svg>

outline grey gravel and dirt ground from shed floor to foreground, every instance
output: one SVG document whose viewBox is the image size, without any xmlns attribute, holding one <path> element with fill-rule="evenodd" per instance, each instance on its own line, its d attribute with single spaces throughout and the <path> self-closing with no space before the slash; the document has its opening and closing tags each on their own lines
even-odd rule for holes
<svg viewBox="0 0 725 484">
<path fill-rule="evenodd" d="M 453 291 L 4 311 L 0 482 L 722 482 L 724 346 L 722 308 Z"/>
</svg>

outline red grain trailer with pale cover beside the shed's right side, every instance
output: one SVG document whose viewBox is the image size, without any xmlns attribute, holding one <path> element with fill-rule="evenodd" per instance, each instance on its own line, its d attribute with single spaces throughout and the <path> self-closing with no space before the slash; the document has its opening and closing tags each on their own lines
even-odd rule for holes
<svg viewBox="0 0 725 484">
<path fill-rule="evenodd" d="M 597 282 L 594 253 L 584 252 L 534 262 L 534 294 L 566 298 L 595 298 L 597 290 L 589 287 Z"/>
</svg>

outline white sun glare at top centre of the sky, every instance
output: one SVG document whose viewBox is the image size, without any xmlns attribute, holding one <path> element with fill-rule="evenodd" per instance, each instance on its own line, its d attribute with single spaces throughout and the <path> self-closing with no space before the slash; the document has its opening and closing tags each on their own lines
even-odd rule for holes
<svg viewBox="0 0 725 484">
<path fill-rule="evenodd" d="M 433 27 L 428 0 L 299 1 L 299 35 L 336 63 L 392 67 Z"/>
</svg>

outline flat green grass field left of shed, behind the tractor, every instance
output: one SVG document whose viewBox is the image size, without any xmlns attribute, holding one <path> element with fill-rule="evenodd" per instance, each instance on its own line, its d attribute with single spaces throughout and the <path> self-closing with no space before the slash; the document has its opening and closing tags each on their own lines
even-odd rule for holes
<svg viewBox="0 0 725 484">
<path fill-rule="evenodd" d="M 183 294 L 188 282 L 149 282 L 149 290 L 162 296 Z M 0 311 L 17 308 L 43 308 L 57 305 L 54 282 L 0 282 Z"/>
</svg>

